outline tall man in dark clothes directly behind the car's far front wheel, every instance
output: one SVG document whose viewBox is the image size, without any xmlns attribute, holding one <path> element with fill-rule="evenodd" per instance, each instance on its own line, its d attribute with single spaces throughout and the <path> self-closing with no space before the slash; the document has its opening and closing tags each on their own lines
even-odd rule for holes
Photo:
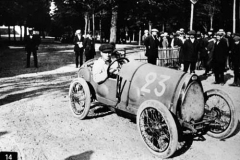
<svg viewBox="0 0 240 160">
<path fill-rule="evenodd" d="M 224 71 L 226 58 L 228 55 L 228 45 L 227 41 L 223 39 L 224 34 L 217 32 L 216 34 L 216 43 L 214 45 L 213 51 L 213 72 L 215 75 L 214 84 L 224 85 Z"/>
</svg>

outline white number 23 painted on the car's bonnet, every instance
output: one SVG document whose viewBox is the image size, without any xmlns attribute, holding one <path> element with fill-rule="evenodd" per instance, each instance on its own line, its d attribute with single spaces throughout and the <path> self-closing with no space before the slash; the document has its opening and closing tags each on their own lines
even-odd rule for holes
<svg viewBox="0 0 240 160">
<path fill-rule="evenodd" d="M 154 90 L 153 90 L 157 97 L 160 97 L 164 94 L 164 92 L 166 90 L 165 82 L 170 79 L 170 76 L 160 75 L 160 78 L 161 78 L 161 80 L 158 82 L 158 85 L 161 86 L 162 89 L 159 91 L 158 88 L 154 88 Z M 151 93 L 151 90 L 148 87 L 149 87 L 149 85 L 154 83 L 156 81 L 156 79 L 157 79 L 157 73 L 154 73 L 154 72 L 148 73 L 145 77 L 146 83 L 141 88 L 141 91 L 146 92 L 146 93 Z"/>
</svg>

